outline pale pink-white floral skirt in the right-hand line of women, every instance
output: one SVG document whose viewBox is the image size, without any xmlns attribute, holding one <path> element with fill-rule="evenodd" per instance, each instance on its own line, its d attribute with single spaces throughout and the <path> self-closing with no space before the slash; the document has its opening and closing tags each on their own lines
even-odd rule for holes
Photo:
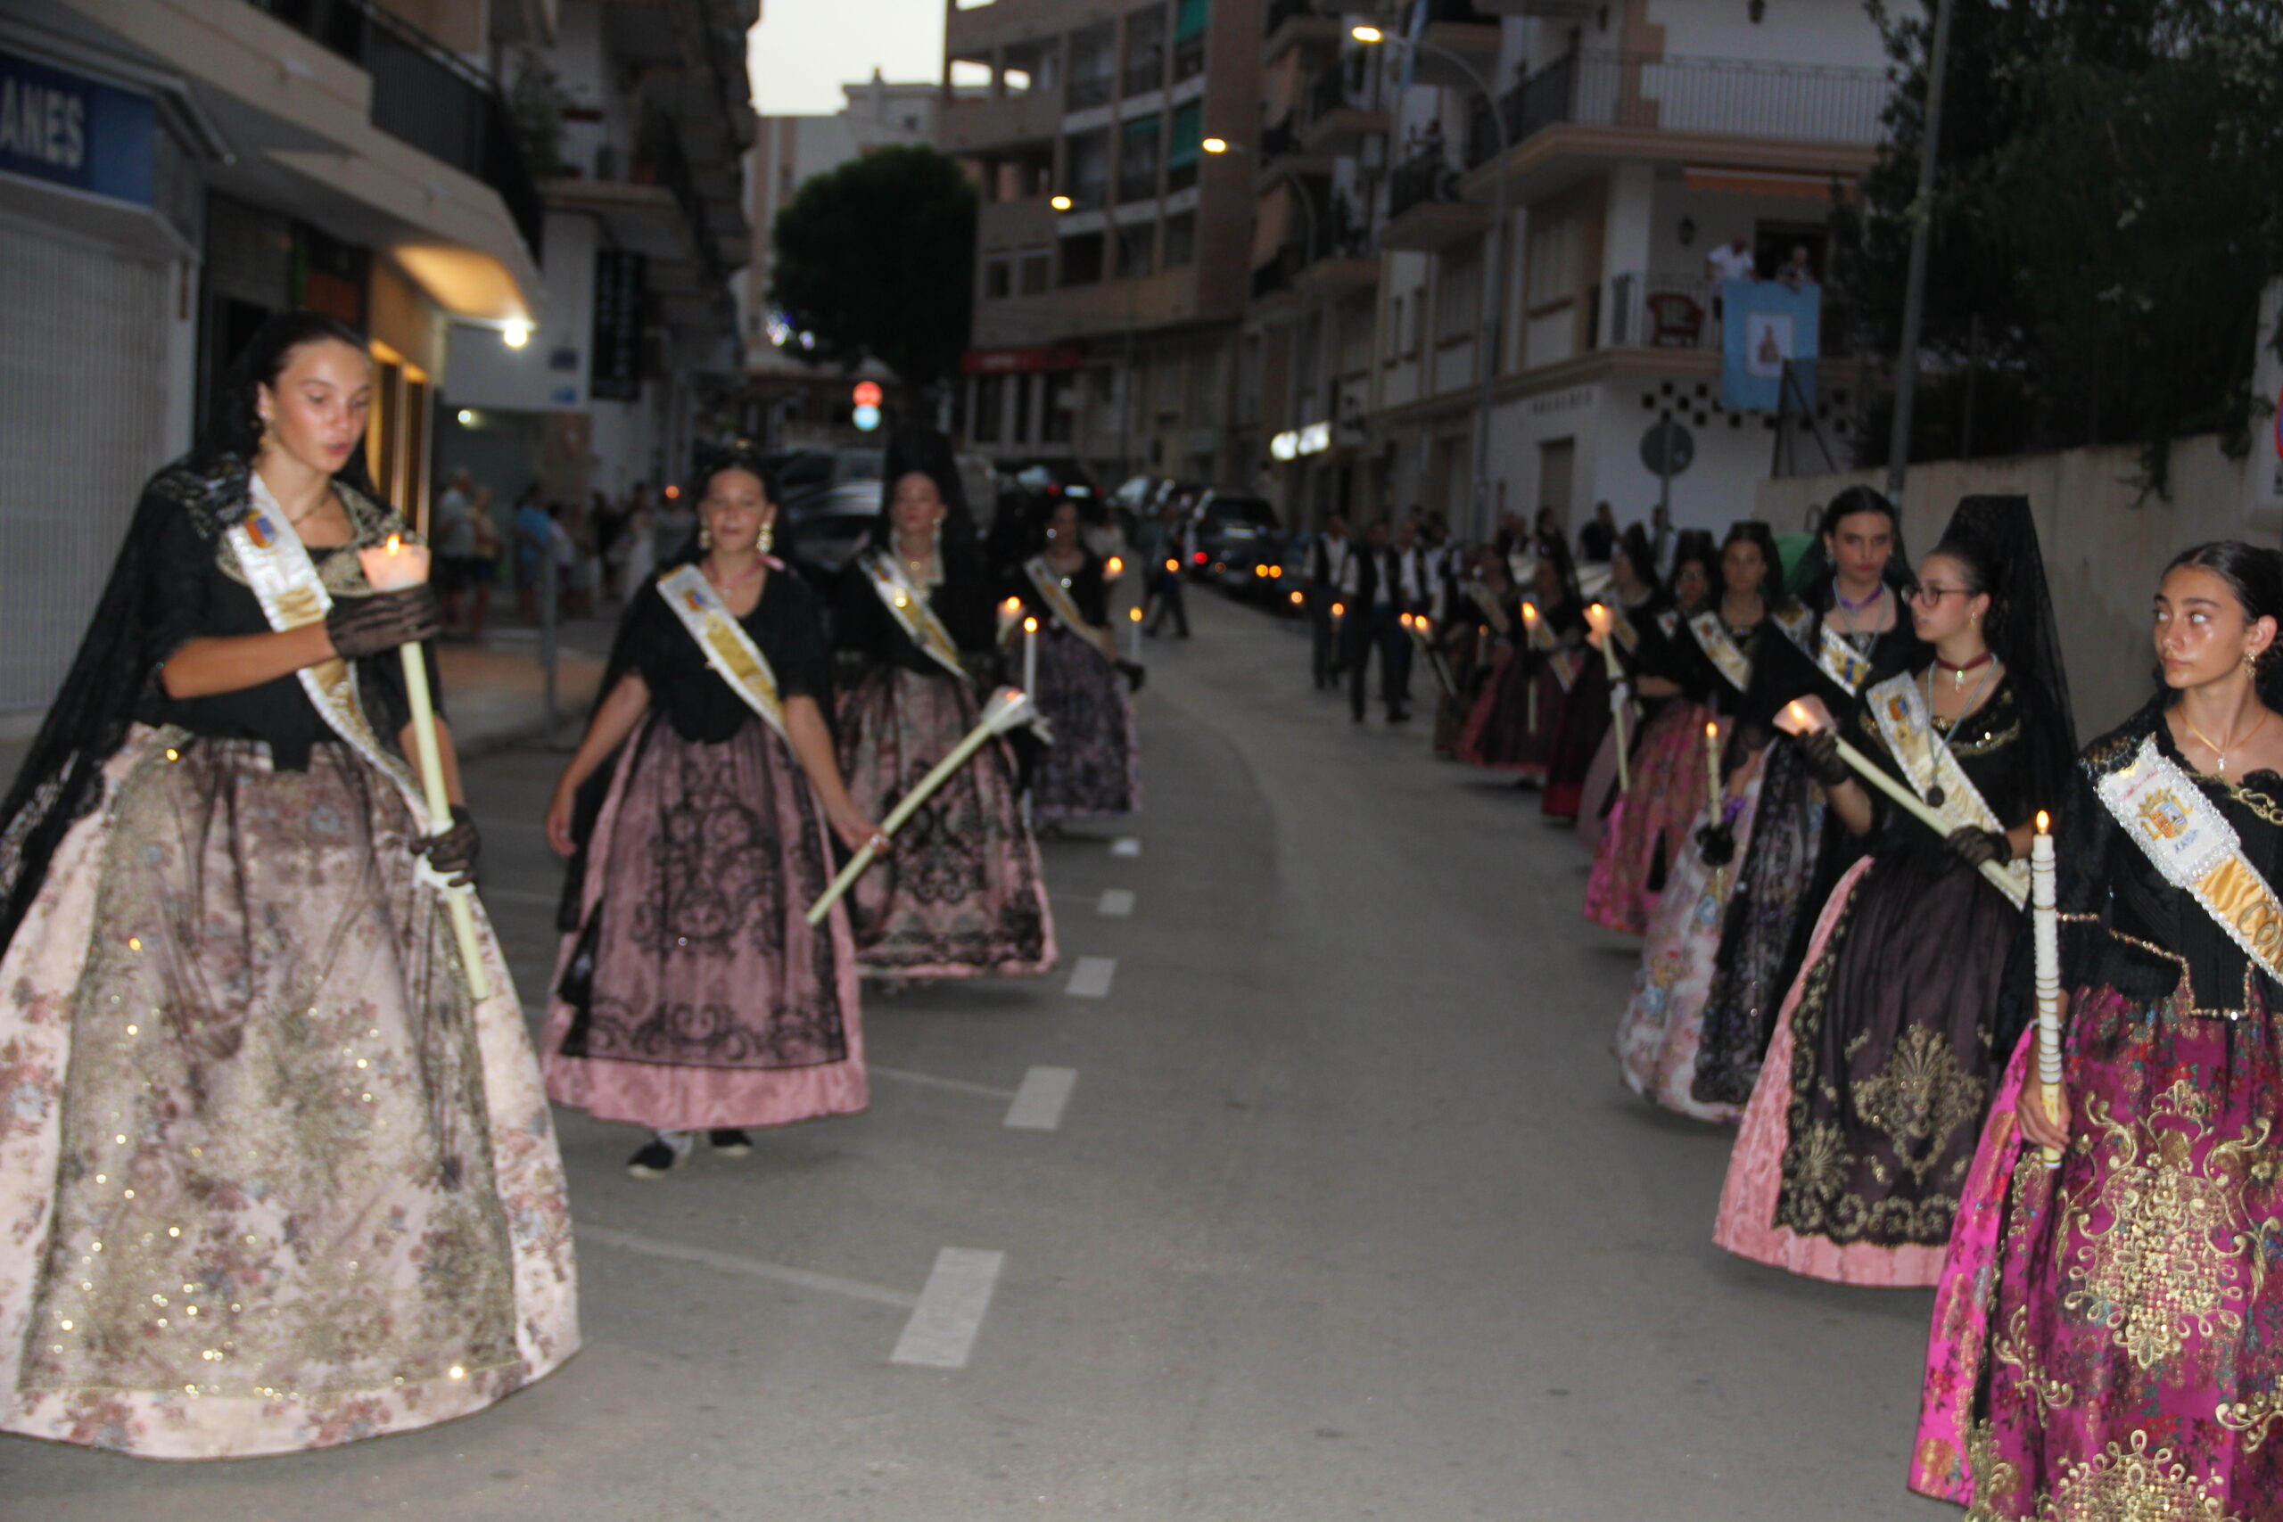
<svg viewBox="0 0 2283 1522">
<path fill-rule="evenodd" d="M 1758 803 L 1760 774 L 1753 769 L 1733 821 L 1737 860 L 1751 847 Z M 1708 819 L 1710 815 L 1699 815 L 1696 824 Z M 1692 1093 L 1705 988 L 1712 983 L 1712 956 L 1719 952 L 1733 883 L 1735 863 L 1712 872 L 1689 837 L 1648 922 L 1641 968 L 1632 974 L 1632 999 L 1616 1022 L 1616 1066 L 1625 1086 L 1694 1120 L 1737 1116 L 1735 1104 L 1708 1104 Z"/>
</svg>

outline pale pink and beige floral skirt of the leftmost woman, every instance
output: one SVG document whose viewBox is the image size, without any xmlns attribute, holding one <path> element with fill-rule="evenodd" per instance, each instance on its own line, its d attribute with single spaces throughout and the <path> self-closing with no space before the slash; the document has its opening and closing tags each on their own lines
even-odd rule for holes
<svg viewBox="0 0 2283 1522">
<path fill-rule="evenodd" d="M 178 760 L 167 760 L 167 748 Z M 468 995 L 347 746 L 130 735 L 0 986 L 0 1431 L 237 1458 L 413 1431 L 578 1349 L 514 981 Z"/>
</svg>

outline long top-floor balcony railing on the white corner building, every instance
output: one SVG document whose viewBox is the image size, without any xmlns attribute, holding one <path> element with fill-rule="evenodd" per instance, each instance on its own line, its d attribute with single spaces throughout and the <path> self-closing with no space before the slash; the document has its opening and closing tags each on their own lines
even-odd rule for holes
<svg viewBox="0 0 2283 1522">
<path fill-rule="evenodd" d="M 1705 57 L 1571 52 L 1504 96 L 1507 141 L 1564 121 L 1719 137 L 1877 146 L 1893 82 L 1877 68 L 1820 68 Z M 1491 112 L 1475 98 L 1466 164 L 1498 153 Z"/>
</svg>

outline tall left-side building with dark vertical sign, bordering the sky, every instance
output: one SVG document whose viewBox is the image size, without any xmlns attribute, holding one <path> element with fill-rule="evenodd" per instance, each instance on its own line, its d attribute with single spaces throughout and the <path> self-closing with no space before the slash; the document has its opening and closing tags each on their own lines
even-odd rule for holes
<svg viewBox="0 0 2283 1522">
<path fill-rule="evenodd" d="M 498 0 L 505 5 L 505 0 Z M 744 34 L 760 0 L 541 0 L 514 68 L 559 100 L 527 342 L 452 326 L 438 465 L 511 497 L 676 481 L 740 424 L 735 281 L 753 251 Z M 539 91 L 532 91 L 539 94 Z M 523 335 L 516 335 L 523 338 Z"/>
</svg>

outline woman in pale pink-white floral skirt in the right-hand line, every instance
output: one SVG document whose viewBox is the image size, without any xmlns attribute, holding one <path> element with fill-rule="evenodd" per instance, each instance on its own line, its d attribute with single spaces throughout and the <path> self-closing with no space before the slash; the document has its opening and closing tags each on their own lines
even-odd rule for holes
<svg viewBox="0 0 2283 1522">
<path fill-rule="evenodd" d="M 1776 541 L 1765 523 L 1737 523 L 1719 552 L 1721 598 L 1683 623 L 1685 637 L 1717 673 L 1710 707 L 1733 735 L 1735 714 L 1753 685 L 1753 669 L 1767 655 L 1783 607 L 1776 577 Z M 1719 737 L 1717 737 L 1719 739 Z M 1703 735 L 1699 735 L 1703 744 Z M 1705 755 L 1699 751 L 1699 762 Z M 1710 778 L 1705 792 L 1712 792 Z M 1719 949 L 1735 858 L 1751 844 L 1760 801 L 1760 758 L 1724 774 L 1717 810 L 1708 799 L 1687 849 L 1673 863 L 1648 920 L 1641 968 L 1632 974 L 1632 999 L 1616 1025 L 1616 1061 L 1625 1086 L 1653 1104 L 1696 1120 L 1735 1120 L 1740 1107 L 1708 1104 L 1694 1095 L 1705 988 Z"/>
</svg>

